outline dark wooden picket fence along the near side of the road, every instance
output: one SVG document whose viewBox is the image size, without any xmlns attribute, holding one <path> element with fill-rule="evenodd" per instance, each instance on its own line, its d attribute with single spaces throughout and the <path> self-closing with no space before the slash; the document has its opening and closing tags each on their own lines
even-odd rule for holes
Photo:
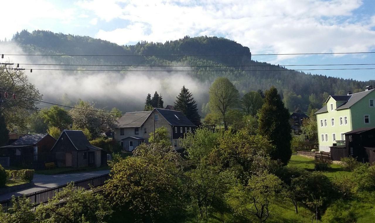
<svg viewBox="0 0 375 223">
<path fill-rule="evenodd" d="M 75 181 L 74 186 L 76 189 L 83 188 L 87 190 L 90 189 L 90 187 L 99 187 L 104 185 L 109 178 L 109 174 L 104 174 L 97 177 L 91 177 L 84 180 Z M 68 184 L 40 190 L 33 193 L 28 193 L 23 196 L 25 198 L 30 199 L 30 207 L 33 208 L 39 205 L 40 203 L 47 204 L 49 199 L 52 199 L 58 192 L 61 192 L 66 186 L 68 186 Z M 2 200 L 0 201 L 0 204 L 3 207 L 3 210 L 7 211 L 7 209 L 12 206 L 12 199 L 9 198 L 6 200 Z"/>
</svg>

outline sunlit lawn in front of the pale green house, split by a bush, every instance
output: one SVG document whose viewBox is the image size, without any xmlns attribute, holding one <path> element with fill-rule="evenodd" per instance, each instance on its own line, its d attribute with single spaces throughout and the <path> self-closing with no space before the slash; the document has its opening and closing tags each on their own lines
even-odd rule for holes
<svg viewBox="0 0 375 223">
<path fill-rule="evenodd" d="M 304 156 L 292 155 L 292 158 L 289 160 L 288 166 L 294 166 L 306 169 L 307 171 L 314 171 L 314 159 L 309 159 Z M 323 172 L 324 175 L 330 178 L 341 177 L 343 175 L 350 176 L 352 173 L 346 171 L 341 165 L 332 164 L 331 168 Z"/>
</svg>

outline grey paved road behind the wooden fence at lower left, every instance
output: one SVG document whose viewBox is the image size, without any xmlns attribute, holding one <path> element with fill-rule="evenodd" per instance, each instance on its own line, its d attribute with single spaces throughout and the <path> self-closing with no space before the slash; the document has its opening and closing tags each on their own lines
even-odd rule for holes
<svg viewBox="0 0 375 223">
<path fill-rule="evenodd" d="M 56 187 L 59 185 L 63 185 L 69 183 L 71 181 L 83 180 L 90 177 L 96 177 L 102 174 L 108 174 L 109 170 L 104 171 L 93 171 L 93 172 L 81 172 L 81 173 L 74 173 L 74 174 L 58 174 L 58 175 L 42 175 L 42 174 L 34 174 L 34 187 L 31 187 L 26 190 L 7 193 L 5 195 L 0 195 L 0 200 L 8 199 L 12 195 L 20 196 L 27 193 L 36 192 L 39 190 L 43 190 L 46 188 Z"/>
</svg>

